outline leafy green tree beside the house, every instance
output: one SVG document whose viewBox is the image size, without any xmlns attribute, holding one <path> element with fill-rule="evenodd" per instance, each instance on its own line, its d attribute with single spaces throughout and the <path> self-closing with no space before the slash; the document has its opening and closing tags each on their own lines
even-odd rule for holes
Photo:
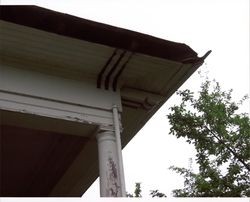
<svg viewBox="0 0 250 202">
<path fill-rule="evenodd" d="M 181 104 L 167 116 L 170 134 L 183 137 L 196 149 L 199 172 L 192 168 L 170 169 L 185 178 L 184 188 L 173 191 L 181 197 L 250 196 L 250 120 L 238 113 L 247 99 L 232 101 L 232 90 L 222 91 L 208 79 L 198 96 L 190 90 L 178 91 Z"/>
</svg>

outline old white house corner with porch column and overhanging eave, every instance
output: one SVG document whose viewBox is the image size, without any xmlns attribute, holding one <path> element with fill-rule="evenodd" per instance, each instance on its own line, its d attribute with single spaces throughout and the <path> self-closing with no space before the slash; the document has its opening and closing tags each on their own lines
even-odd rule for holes
<svg viewBox="0 0 250 202">
<path fill-rule="evenodd" d="M 121 148 L 204 62 L 185 44 L 0 7 L 0 196 L 124 196 Z"/>
</svg>

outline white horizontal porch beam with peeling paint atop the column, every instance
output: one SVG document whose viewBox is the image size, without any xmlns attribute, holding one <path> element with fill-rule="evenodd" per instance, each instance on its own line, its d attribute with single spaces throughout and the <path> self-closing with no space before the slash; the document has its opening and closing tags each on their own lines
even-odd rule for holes
<svg viewBox="0 0 250 202">
<path fill-rule="evenodd" d="M 95 125 L 113 125 L 110 109 L 122 110 L 119 92 L 0 64 L 0 109 Z"/>
</svg>

